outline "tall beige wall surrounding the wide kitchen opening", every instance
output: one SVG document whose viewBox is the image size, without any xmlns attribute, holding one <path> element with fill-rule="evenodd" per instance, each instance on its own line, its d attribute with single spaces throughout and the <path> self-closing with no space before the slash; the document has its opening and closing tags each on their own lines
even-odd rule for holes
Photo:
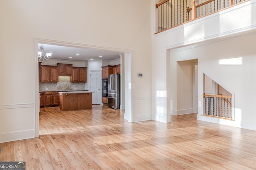
<svg viewBox="0 0 256 170">
<path fill-rule="evenodd" d="M 142 87 L 131 95 L 139 99 L 132 114 L 151 114 L 150 6 L 148 0 L 2 1 L 0 143 L 36 136 L 36 39 L 132 53 L 130 92 Z"/>
</svg>

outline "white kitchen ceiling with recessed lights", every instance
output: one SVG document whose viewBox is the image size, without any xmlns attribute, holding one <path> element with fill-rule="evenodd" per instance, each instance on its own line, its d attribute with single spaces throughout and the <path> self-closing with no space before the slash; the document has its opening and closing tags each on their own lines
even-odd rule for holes
<svg viewBox="0 0 256 170">
<path fill-rule="evenodd" d="M 38 51 L 40 50 L 41 44 L 38 44 Z M 115 51 L 104 51 L 98 49 L 89 48 L 76 48 L 66 47 L 59 45 L 43 44 L 44 53 L 52 51 L 51 59 L 62 59 L 62 60 L 74 60 L 74 61 L 86 61 L 86 60 L 114 60 L 119 59 L 120 52 Z M 79 54 L 79 55 L 76 55 Z M 99 57 L 102 56 L 102 57 Z M 72 57 L 70 59 L 69 57 Z"/>
</svg>

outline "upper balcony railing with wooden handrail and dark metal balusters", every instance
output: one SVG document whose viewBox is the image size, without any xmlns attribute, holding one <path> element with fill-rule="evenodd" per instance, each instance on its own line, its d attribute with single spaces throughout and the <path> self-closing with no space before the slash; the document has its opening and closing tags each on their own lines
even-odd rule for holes
<svg viewBox="0 0 256 170">
<path fill-rule="evenodd" d="M 248 0 L 164 0 L 156 4 L 156 32 Z"/>
</svg>

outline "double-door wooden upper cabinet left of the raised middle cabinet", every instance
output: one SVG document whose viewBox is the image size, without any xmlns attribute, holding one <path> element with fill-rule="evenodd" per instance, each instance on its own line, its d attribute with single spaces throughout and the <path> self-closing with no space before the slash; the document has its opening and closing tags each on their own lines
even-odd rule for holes
<svg viewBox="0 0 256 170">
<path fill-rule="evenodd" d="M 41 82 L 58 82 L 58 66 L 41 65 Z"/>
</svg>

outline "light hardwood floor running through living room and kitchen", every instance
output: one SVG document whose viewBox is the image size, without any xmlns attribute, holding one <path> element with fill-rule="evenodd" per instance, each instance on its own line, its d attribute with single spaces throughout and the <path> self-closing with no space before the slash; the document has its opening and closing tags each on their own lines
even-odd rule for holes
<svg viewBox="0 0 256 170">
<path fill-rule="evenodd" d="M 0 161 L 26 169 L 256 169 L 256 131 L 172 116 L 172 123 L 129 123 L 124 111 L 42 108 L 40 137 L 0 143 Z"/>
</svg>

